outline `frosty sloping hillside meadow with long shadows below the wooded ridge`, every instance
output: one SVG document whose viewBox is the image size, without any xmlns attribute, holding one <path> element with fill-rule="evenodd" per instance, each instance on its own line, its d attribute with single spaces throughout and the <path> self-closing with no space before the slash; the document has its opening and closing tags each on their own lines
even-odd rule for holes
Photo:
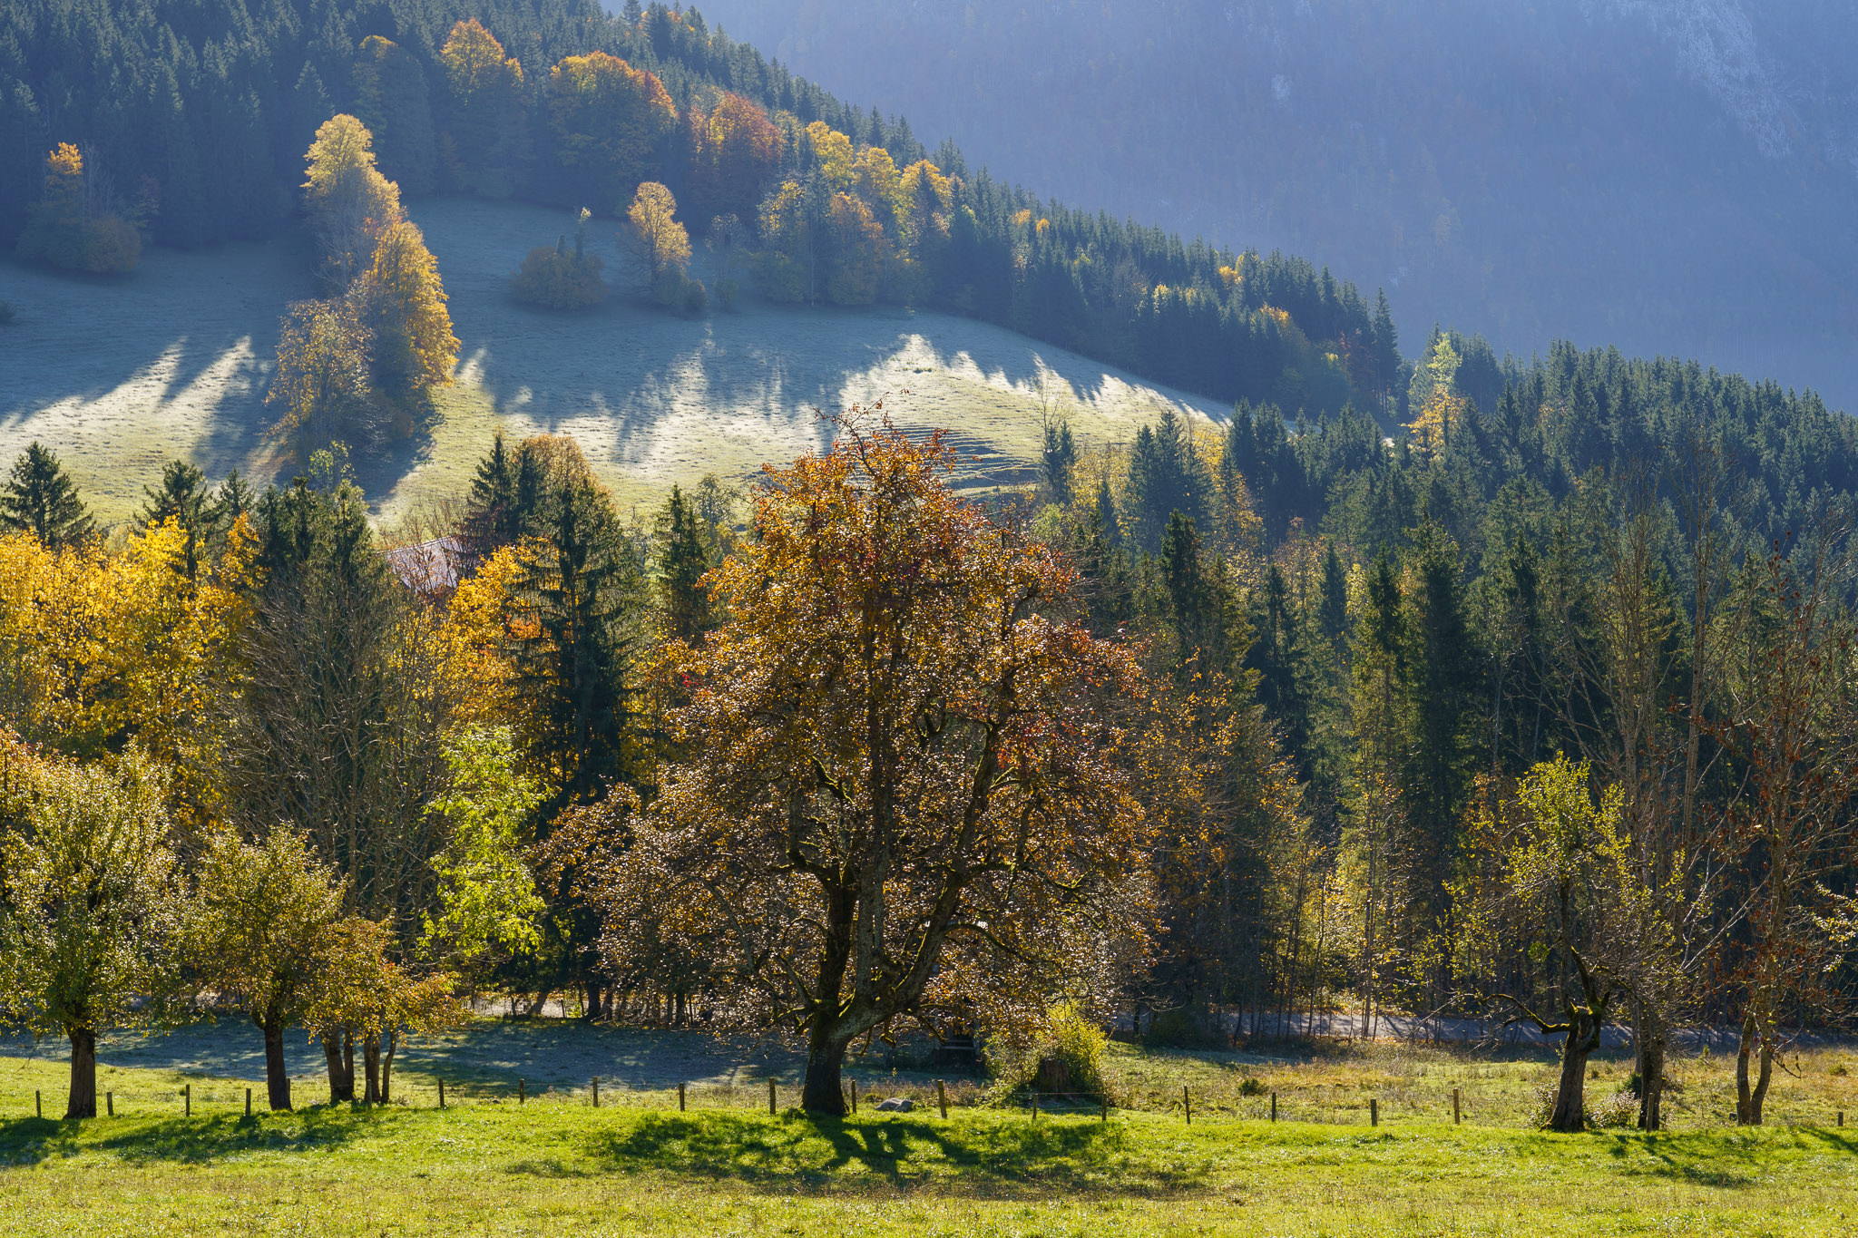
<svg viewBox="0 0 1858 1238">
<path fill-rule="evenodd" d="M 1158 388 L 944 314 L 805 310 L 747 303 L 684 319 L 615 295 L 585 314 L 515 304 L 509 273 L 569 226 L 563 212 L 468 200 L 412 204 L 451 295 L 459 382 L 414 440 L 357 462 L 392 520 L 422 496 L 459 492 L 496 425 L 572 434 L 621 503 L 652 503 L 704 473 L 751 475 L 823 442 L 816 410 L 886 399 L 907 427 L 948 427 L 974 457 L 962 484 L 1029 479 L 1042 406 L 1085 444 L 1126 442 L 1172 405 L 1202 419 L 1213 401 Z M 589 241 L 619 275 L 615 225 Z M 104 520 L 141 501 L 165 458 L 212 477 L 288 475 L 268 442 L 264 392 L 277 316 L 312 293 L 301 238 L 203 254 L 150 251 L 126 280 L 0 265 L 0 464 L 52 445 Z M 702 271 L 699 269 L 699 275 Z"/>
</svg>

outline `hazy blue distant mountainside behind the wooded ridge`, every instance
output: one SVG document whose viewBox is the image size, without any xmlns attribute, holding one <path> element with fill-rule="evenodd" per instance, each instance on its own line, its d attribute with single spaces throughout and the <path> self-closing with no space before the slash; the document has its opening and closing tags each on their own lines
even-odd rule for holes
<svg viewBox="0 0 1858 1238">
<path fill-rule="evenodd" d="M 1843 0 L 700 7 L 1040 195 L 1386 286 L 1407 340 L 1698 356 L 1858 408 Z"/>
</svg>

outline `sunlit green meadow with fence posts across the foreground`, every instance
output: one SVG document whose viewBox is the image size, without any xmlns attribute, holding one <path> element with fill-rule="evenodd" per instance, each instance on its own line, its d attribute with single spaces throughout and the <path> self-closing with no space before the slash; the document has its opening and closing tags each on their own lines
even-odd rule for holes
<svg viewBox="0 0 1858 1238">
<path fill-rule="evenodd" d="M 600 1030 L 578 1032 L 589 1043 Z M 634 1034 L 637 1036 L 637 1034 Z M 563 1041 L 565 1043 L 565 1041 Z M 559 1049 L 559 1045 L 554 1045 Z M 552 1051 L 554 1051 L 552 1049 Z M 1113 1045 L 1109 1121 L 1029 1114 L 981 1086 L 933 1106 L 771 1117 L 765 1084 L 531 1090 L 453 1071 L 442 1047 L 399 1103 L 243 1117 L 240 1078 L 104 1067 L 117 1117 L 63 1112 L 65 1067 L 0 1060 L 6 1234 L 1836 1234 L 1858 1225 L 1849 1051 L 1789 1060 L 1774 1125 L 1713 1108 L 1728 1062 L 1683 1058 L 1668 1134 L 1524 1128 L 1540 1052 L 1395 1045 L 1165 1052 Z M 108 1054 L 106 1054 L 108 1060 Z M 784 1078 L 790 1064 L 767 1075 Z M 1594 1091 L 1626 1064 L 1596 1062 Z M 437 1108 L 435 1071 L 451 1077 Z M 864 1095 L 933 1097 L 931 1077 L 860 1067 Z M 1245 1080 L 1256 1080 L 1247 1084 Z M 193 1088 L 182 1117 L 178 1090 Z M 654 1084 L 661 1080 L 650 1080 Z M 1195 1097 L 1187 1125 L 1178 1093 Z M 1466 1097 L 1451 1125 L 1449 1090 Z M 1260 1112 L 1280 1093 L 1284 1121 Z M 262 1088 L 258 1099 L 262 1106 Z M 314 1099 L 308 1078 L 299 1103 Z M 1366 1099 L 1380 1101 L 1369 1127 Z M 1799 1123 L 1799 1125 L 1784 1125 Z"/>
</svg>

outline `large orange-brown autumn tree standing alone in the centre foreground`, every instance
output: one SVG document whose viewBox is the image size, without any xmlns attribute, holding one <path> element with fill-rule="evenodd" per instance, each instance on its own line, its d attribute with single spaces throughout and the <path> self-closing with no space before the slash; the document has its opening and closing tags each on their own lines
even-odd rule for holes
<svg viewBox="0 0 1858 1238">
<path fill-rule="evenodd" d="M 855 412 L 767 473 L 684 668 L 691 757 L 604 891 L 613 963 L 674 937 L 725 1013 L 806 1036 L 816 1114 L 844 1112 L 853 1038 L 1102 995 L 1141 937 L 1106 711 L 1141 690 L 1133 655 L 1074 618 L 1061 555 L 948 488 L 953 462 Z"/>
</svg>

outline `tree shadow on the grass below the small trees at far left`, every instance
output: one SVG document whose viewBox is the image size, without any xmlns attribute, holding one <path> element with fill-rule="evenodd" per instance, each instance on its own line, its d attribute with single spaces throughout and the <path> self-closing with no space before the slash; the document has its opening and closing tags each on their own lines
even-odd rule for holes
<svg viewBox="0 0 1858 1238">
<path fill-rule="evenodd" d="M 381 1117 L 370 1110 L 316 1106 L 262 1117 L 216 1114 L 126 1121 L 117 1132 L 108 1132 L 108 1127 L 98 1132 L 98 1125 L 111 1119 L 24 1117 L 0 1123 L 0 1164 L 41 1164 L 80 1151 L 113 1153 L 128 1164 L 212 1164 L 240 1153 L 307 1153 L 368 1134 Z"/>
</svg>

